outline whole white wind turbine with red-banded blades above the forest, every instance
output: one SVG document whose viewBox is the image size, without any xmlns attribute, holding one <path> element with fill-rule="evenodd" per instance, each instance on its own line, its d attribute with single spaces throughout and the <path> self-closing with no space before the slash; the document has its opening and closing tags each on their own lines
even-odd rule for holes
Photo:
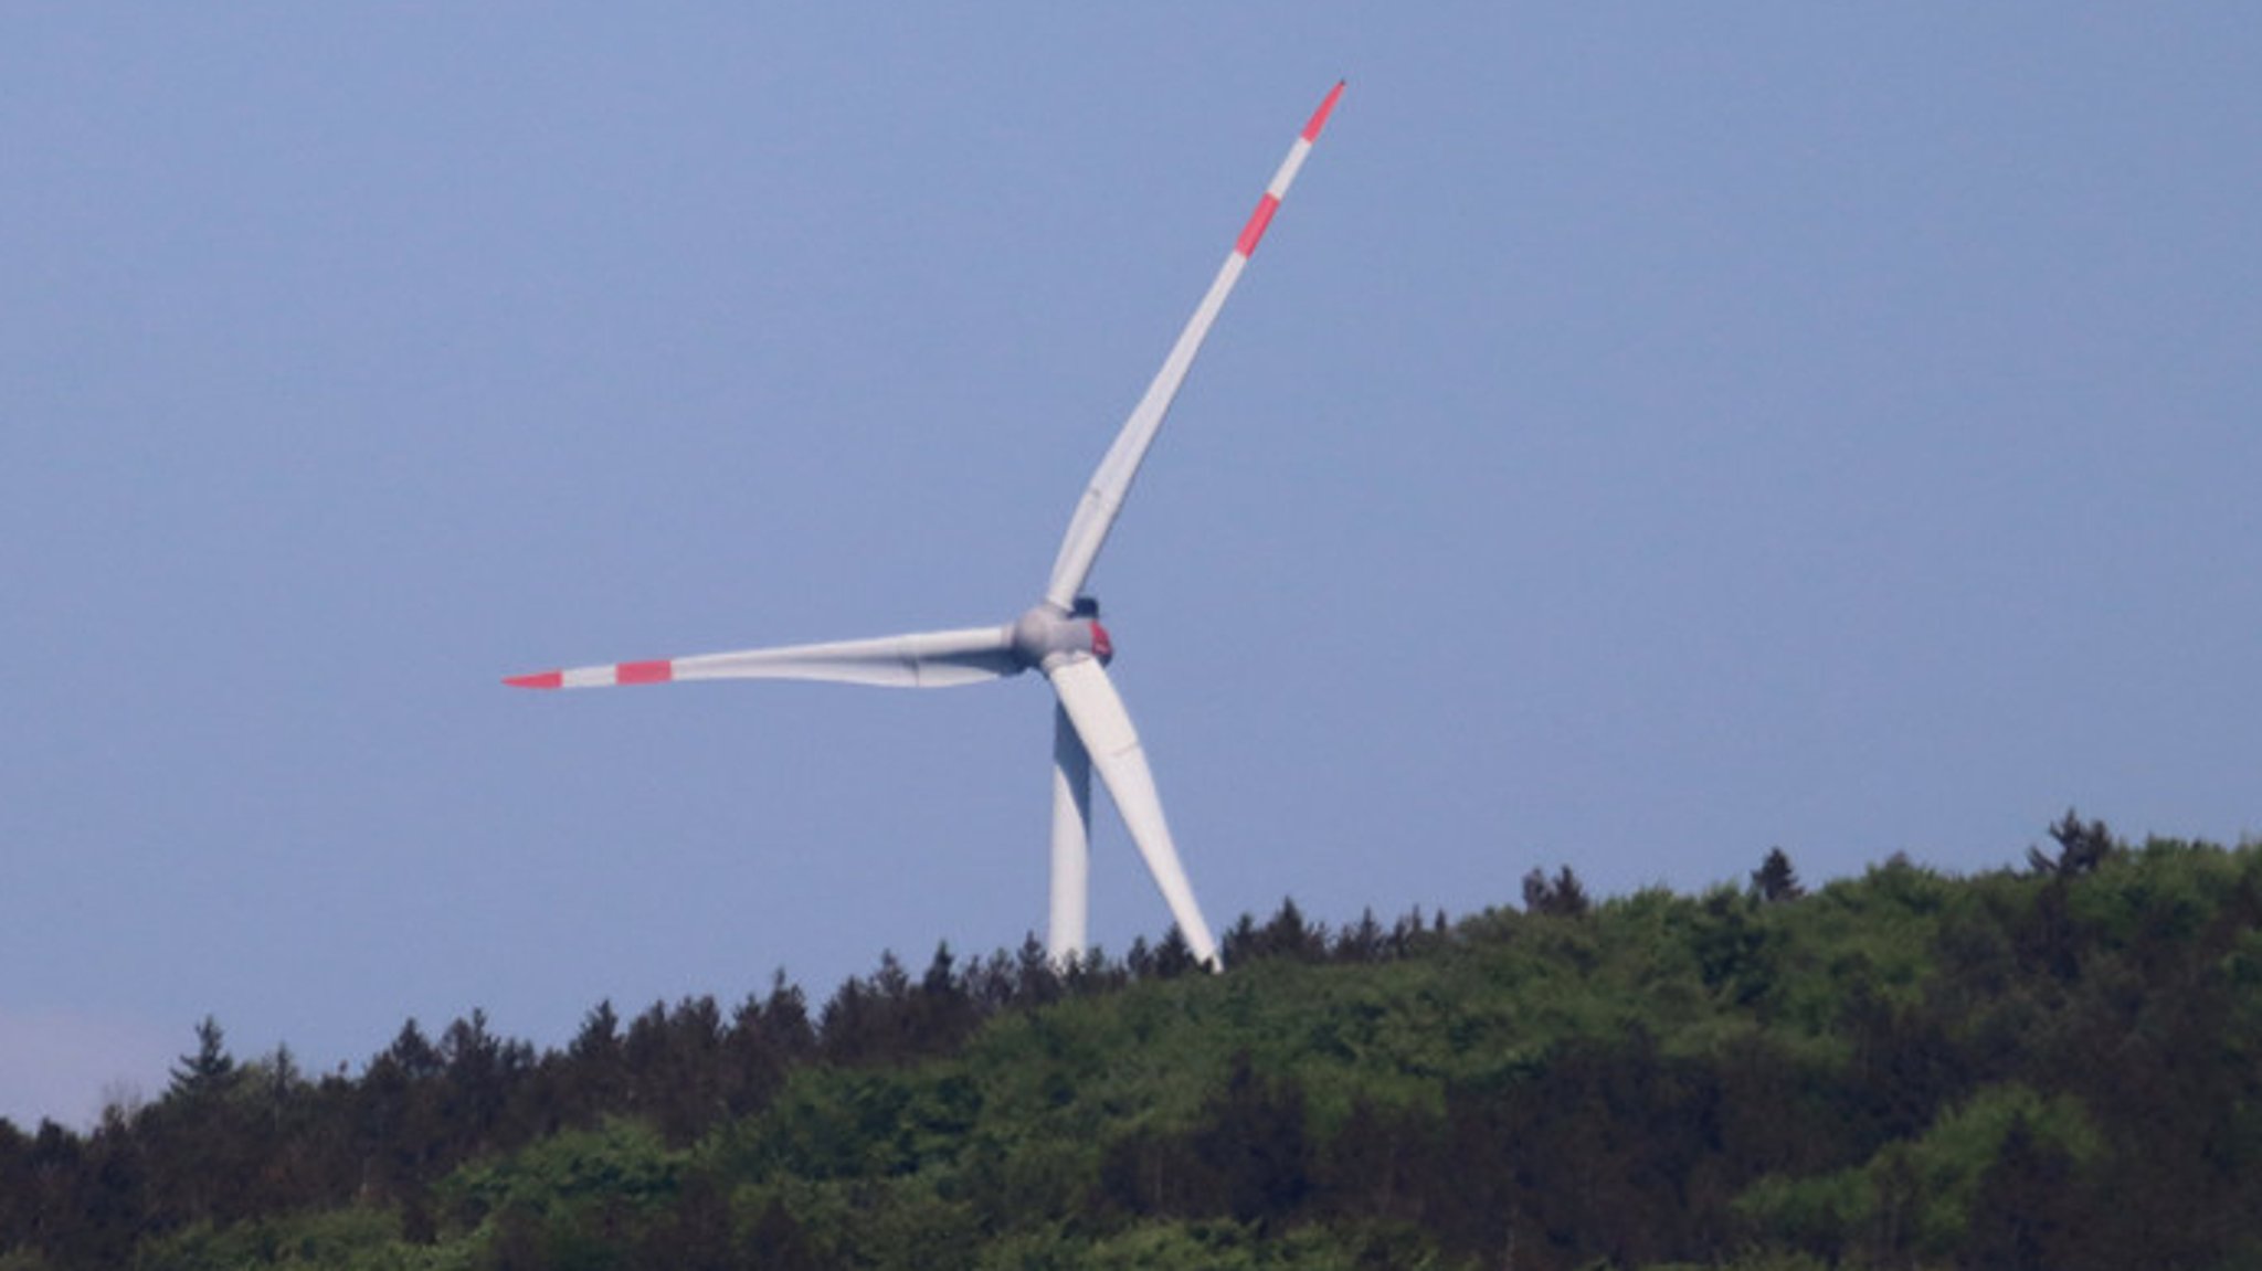
<svg viewBox="0 0 2262 1271">
<path fill-rule="evenodd" d="M 914 636 L 882 636 L 878 640 L 839 640 L 828 645 L 792 645 L 780 649 L 744 649 L 737 654 L 703 654 L 694 658 L 663 658 L 654 663 L 611 663 L 597 667 L 575 667 L 563 672 L 536 672 L 509 676 L 502 683 L 513 688 L 606 688 L 631 683 L 670 683 L 706 678 L 796 678 L 839 681 L 891 688 L 948 688 L 961 683 L 1016 676 L 1027 669 L 1043 672 L 1052 681 L 1059 701 L 1052 724 L 1052 927 L 1047 948 L 1054 961 L 1065 961 L 1086 950 L 1088 882 L 1090 882 L 1090 830 L 1093 830 L 1093 769 L 1106 783 L 1115 810 L 1131 830 L 1154 873 L 1169 916 L 1179 923 L 1188 948 L 1206 966 L 1217 968 L 1217 941 L 1210 925 L 1201 920 L 1194 905 L 1194 887 L 1179 864 L 1179 848 L 1169 839 L 1169 823 L 1163 819 L 1163 801 L 1154 789 L 1154 773 L 1147 769 L 1147 753 L 1140 749 L 1138 730 L 1124 710 L 1115 683 L 1108 681 L 1106 665 L 1115 656 L 1104 626 L 1099 626 L 1099 602 L 1083 595 L 1083 583 L 1099 559 L 1099 547 L 1115 527 L 1131 482 L 1138 477 L 1147 448 L 1154 446 L 1169 403 L 1185 384 L 1185 373 L 1194 366 L 1201 341 L 1210 335 L 1210 323 L 1224 308 L 1226 296 L 1249 267 L 1249 256 L 1264 237 L 1280 199 L 1296 181 L 1319 129 L 1341 100 L 1337 84 L 1312 111 L 1296 142 L 1289 147 L 1280 170 L 1274 172 L 1264 197 L 1258 199 L 1233 251 L 1210 280 L 1208 294 L 1194 308 L 1179 341 L 1163 360 L 1147 394 L 1131 409 L 1115 443 L 1093 473 L 1090 486 L 1077 502 L 1061 538 L 1061 552 L 1052 563 L 1052 579 L 1045 583 L 1045 599 L 1002 626 L 966 626 L 959 631 L 921 631 Z"/>
</svg>

